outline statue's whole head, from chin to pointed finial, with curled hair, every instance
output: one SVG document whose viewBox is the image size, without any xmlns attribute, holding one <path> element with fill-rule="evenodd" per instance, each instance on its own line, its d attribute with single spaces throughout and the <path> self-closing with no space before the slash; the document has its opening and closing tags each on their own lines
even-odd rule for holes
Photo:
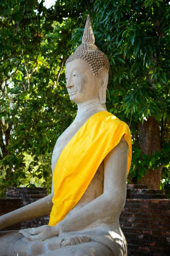
<svg viewBox="0 0 170 256">
<path fill-rule="evenodd" d="M 71 101 L 77 104 L 97 98 L 102 104 L 106 102 L 109 61 L 94 41 L 88 15 L 82 44 L 66 61 L 66 87 Z"/>
</svg>

